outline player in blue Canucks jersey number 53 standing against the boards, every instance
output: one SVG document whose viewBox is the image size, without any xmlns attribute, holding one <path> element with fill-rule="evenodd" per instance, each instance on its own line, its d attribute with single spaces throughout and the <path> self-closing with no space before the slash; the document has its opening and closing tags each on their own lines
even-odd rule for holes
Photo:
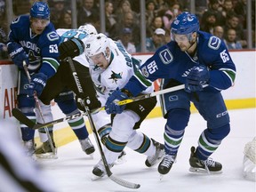
<svg viewBox="0 0 256 192">
<path fill-rule="evenodd" d="M 29 119 L 37 123 L 52 121 L 51 107 L 42 103 L 41 108 L 44 120 L 40 117 L 38 109 L 34 112 L 35 100 L 34 92 L 40 96 L 47 80 L 53 76 L 59 68 L 58 44 L 60 38 L 55 28 L 50 22 L 50 10 L 48 4 L 36 2 L 32 4 L 30 15 L 21 15 L 12 21 L 10 25 L 10 34 L 8 40 L 8 52 L 12 61 L 18 66 L 19 72 L 19 92 L 18 108 L 28 116 Z M 23 68 L 23 61 L 28 66 L 31 76 L 31 83 L 28 83 L 28 77 Z M 21 136 L 25 147 L 28 149 L 28 156 L 35 152 L 34 135 L 35 131 L 20 124 Z M 52 130 L 49 130 L 53 139 Z M 48 140 L 44 129 L 40 130 L 40 139 L 44 143 Z M 54 143 L 53 143 L 54 145 Z"/>
</svg>

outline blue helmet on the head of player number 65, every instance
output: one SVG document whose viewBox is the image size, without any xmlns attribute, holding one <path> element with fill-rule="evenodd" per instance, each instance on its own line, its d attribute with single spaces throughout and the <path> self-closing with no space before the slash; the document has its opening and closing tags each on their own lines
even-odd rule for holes
<svg viewBox="0 0 256 192">
<path fill-rule="evenodd" d="M 173 20 L 171 25 L 172 34 L 187 35 L 199 30 L 199 20 L 196 15 L 182 12 Z"/>
</svg>

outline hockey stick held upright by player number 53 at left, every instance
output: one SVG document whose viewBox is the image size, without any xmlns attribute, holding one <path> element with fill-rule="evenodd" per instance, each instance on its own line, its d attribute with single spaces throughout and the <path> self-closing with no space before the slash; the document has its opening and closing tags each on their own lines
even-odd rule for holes
<svg viewBox="0 0 256 192">
<path fill-rule="evenodd" d="M 28 77 L 28 83 L 30 84 L 31 83 L 31 76 L 29 75 L 28 66 L 27 66 L 27 63 L 26 63 L 25 60 L 23 60 L 23 68 L 25 70 L 26 76 Z M 36 101 L 36 108 L 38 108 L 39 114 L 40 114 L 40 116 L 43 119 L 43 122 L 45 124 L 44 115 L 43 115 L 43 112 L 42 112 L 42 108 L 40 107 L 40 103 L 39 103 L 38 97 L 36 95 L 36 92 L 34 92 L 34 100 Z M 56 156 L 56 150 L 53 146 L 52 138 L 51 138 L 51 135 L 50 135 L 49 130 L 48 130 L 47 127 L 44 127 L 44 132 L 46 132 L 47 138 L 48 138 L 49 143 L 50 143 L 50 147 L 52 149 L 53 156 Z"/>
</svg>

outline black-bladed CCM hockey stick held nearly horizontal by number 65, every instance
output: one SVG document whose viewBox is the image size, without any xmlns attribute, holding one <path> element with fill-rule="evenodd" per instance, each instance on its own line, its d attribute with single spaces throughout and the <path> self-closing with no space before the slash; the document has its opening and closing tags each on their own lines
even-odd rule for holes
<svg viewBox="0 0 256 192">
<path fill-rule="evenodd" d="M 204 87 L 205 87 L 205 85 L 204 85 Z M 120 100 L 120 101 L 117 102 L 117 104 L 118 105 L 125 105 L 125 104 L 128 104 L 128 103 L 135 102 L 137 100 L 144 100 L 144 99 L 147 99 L 147 98 L 150 98 L 150 97 L 154 97 L 156 95 L 164 94 L 164 93 L 167 93 L 167 92 L 179 91 L 179 90 L 184 89 L 184 88 L 185 88 L 185 85 L 184 84 L 180 84 L 178 86 L 167 88 L 167 89 L 164 89 L 164 90 L 160 90 L 158 92 L 152 92 L 152 93 L 148 93 L 148 94 L 143 94 L 143 95 L 140 95 L 138 97 L 129 98 L 127 100 Z M 104 107 L 96 108 L 96 109 L 92 110 L 91 114 L 97 113 L 100 110 L 104 110 L 104 109 L 105 109 Z M 50 125 L 53 125 L 53 124 L 58 124 L 58 123 L 61 123 L 61 122 L 65 122 L 67 120 L 75 119 L 76 117 L 79 117 L 79 116 L 86 116 L 87 114 L 85 112 L 78 113 L 78 114 L 75 114 L 73 116 L 66 116 L 64 118 L 60 118 L 60 119 L 57 119 L 57 120 L 54 120 L 52 122 L 48 122 L 48 123 L 45 123 L 45 124 L 35 124 L 30 119 L 28 119 L 27 116 L 24 116 L 24 114 L 22 114 L 18 108 L 13 108 L 12 109 L 12 115 L 16 119 L 18 119 L 20 122 L 22 122 L 23 124 L 26 124 L 27 126 L 29 124 L 28 127 L 31 127 L 32 129 L 39 129 L 39 128 L 50 126 Z"/>
</svg>

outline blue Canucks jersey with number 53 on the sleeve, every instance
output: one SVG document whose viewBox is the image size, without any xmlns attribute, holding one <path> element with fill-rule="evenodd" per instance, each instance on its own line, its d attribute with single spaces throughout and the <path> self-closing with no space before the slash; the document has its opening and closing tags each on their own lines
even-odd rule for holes
<svg viewBox="0 0 256 192">
<path fill-rule="evenodd" d="M 29 73 L 41 72 L 48 78 L 53 76 L 60 65 L 58 61 L 60 38 L 53 24 L 50 22 L 42 34 L 35 35 L 30 28 L 29 15 L 21 15 L 12 21 L 10 28 L 8 44 L 18 43 L 28 53 Z"/>
</svg>

